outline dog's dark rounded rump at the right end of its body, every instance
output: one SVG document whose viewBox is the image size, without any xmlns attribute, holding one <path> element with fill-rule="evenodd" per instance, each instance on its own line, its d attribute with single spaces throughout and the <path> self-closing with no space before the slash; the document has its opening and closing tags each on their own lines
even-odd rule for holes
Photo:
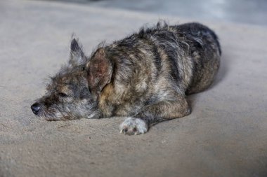
<svg viewBox="0 0 267 177">
<path fill-rule="evenodd" d="M 208 27 L 199 23 L 188 23 L 174 26 L 178 35 L 184 36 L 193 60 L 193 78 L 186 94 L 201 92 L 211 85 L 219 70 L 221 46 L 218 37 Z"/>
</svg>

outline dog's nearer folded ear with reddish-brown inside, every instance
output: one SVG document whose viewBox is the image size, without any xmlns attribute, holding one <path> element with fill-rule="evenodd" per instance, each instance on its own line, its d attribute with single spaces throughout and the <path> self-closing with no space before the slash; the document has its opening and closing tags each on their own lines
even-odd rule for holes
<svg viewBox="0 0 267 177">
<path fill-rule="evenodd" d="M 99 48 L 93 54 L 90 61 L 86 64 L 88 72 L 88 83 L 93 95 L 93 100 L 96 101 L 103 87 L 110 83 L 112 76 L 112 62 L 108 59 L 104 48 Z"/>
</svg>

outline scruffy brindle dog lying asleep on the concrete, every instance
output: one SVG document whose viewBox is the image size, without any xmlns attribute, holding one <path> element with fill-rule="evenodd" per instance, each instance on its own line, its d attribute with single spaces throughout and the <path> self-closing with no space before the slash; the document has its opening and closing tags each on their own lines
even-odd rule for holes
<svg viewBox="0 0 267 177">
<path fill-rule="evenodd" d="M 46 120 L 122 116 L 119 131 L 144 134 L 157 122 L 190 114 L 186 95 L 206 90 L 219 70 L 219 39 L 199 23 L 158 22 L 86 57 L 76 38 L 70 59 L 32 104 Z"/>
</svg>

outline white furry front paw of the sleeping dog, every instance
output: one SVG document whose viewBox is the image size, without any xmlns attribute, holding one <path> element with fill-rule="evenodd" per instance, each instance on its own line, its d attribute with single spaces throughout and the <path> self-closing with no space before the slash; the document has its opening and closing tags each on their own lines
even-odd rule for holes
<svg viewBox="0 0 267 177">
<path fill-rule="evenodd" d="M 124 134 L 144 134 L 148 132 L 148 124 L 139 118 L 126 118 L 121 125 L 119 131 Z"/>
</svg>

